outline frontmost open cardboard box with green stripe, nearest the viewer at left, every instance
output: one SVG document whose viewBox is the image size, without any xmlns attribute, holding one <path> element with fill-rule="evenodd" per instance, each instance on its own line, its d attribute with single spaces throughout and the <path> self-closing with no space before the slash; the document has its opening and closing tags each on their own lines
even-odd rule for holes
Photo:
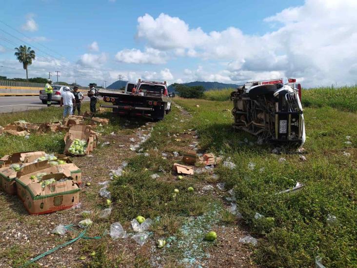
<svg viewBox="0 0 357 268">
<path fill-rule="evenodd" d="M 32 180 L 25 186 L 23 205 L 30 214 L 47 214 L 68 209 L 79 203 L 79 186 L 68 173 L 49 174 L 42 180 L 55 179 L 56 182 L 44 187 L 38 180 Z M 59 181 L 67 179 L 65 181 Z"/>
</svg>

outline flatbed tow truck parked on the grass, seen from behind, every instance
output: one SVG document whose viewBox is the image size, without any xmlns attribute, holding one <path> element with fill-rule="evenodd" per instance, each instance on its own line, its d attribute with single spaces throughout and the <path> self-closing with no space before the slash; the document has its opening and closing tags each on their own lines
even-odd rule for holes
<svg viewBox="0 0 357 268">
<path fill-rule="evenodd" d="M 99 92 L 104 102 L 112 105 L 100 107 L 113 108 L 113 113 L 127 116 L 143 116 L 162 120 L 171 111 L 171 99 L 167 83 L 157 81 L 127 82 L 124 92 Z"/>
</svg>

